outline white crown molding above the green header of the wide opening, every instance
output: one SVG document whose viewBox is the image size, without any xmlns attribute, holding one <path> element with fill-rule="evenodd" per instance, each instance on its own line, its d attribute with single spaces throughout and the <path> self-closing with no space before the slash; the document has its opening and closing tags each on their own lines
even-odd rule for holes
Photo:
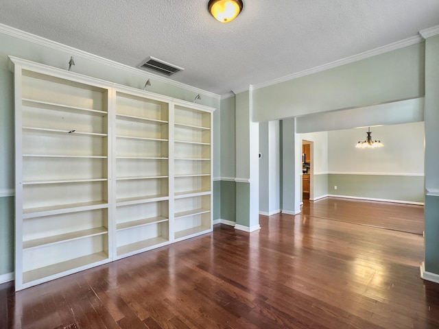
<svg viewBox="0 0 439 329">
<path fill-rule="evenodd" d="M 310 75 L 313 73 L 318 73 L 321 71 L 334 69 L 335 67 L 338 67 L 338 66 L 350 64 L 353 62 L 357 62 L 359 60 L 364 60 L 366 58 L 381 55 L 381 53 L 388 53 L 389 51 L 393 51 L 396 49 L 401 49 L 403 47 L 415 45 L 416 43 L 419 43 L 422 41 L 423 41 L 423 38 L 421 36 L 412 36 L 411 38 L 407 38 L 407 39 L 404 39 L 401 41 L 393 42 L 390 45 L 385 45 L 383 47 L 378 47 L 378 48 L 375 48 L 372 50 L 364 51 L 363 53 L 358 53 L 357 55 L 346 57 L 346 58 L 343 58 L 342 60 L 335 60 L 334 62 L 330 62 L 330 63 L 323 64 L 320 66 L 316 66 L 316 67 L 313 67 L 311 69 L 300 71 L 298 73 L 285 75 L 284 77 L 279 77 L 277 79 L 270 80 L 268 82 L 263 82 L 262 84 L 253 85 L 253 89 L 260 89 L 260 88 L 272 86 L 273 84 L 279 84 L 281 82 L 286 82 L 289 80 L 297 79 L 298 77 L 304 77 L 305 75 Z"/>
</svg>

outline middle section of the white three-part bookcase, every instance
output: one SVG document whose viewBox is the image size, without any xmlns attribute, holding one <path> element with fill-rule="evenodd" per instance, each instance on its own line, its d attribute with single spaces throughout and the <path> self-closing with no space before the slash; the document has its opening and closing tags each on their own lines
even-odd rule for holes
<svg viewBox="0 0 439 329">
<path fill-rule="evenodd" d="M 169 103 L 115 91 L 116 255 L 169 243 Z"/>
</svg>

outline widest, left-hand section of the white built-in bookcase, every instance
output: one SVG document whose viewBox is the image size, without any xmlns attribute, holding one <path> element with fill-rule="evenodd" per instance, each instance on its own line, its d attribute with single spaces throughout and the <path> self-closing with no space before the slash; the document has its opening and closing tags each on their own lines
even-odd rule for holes
<svg viewBox="0 0 439 329">
<path fill-rule="evenodd" d="M 111 260 L 108 88 L 16 64 L 16 289 Z"/>
</svg>

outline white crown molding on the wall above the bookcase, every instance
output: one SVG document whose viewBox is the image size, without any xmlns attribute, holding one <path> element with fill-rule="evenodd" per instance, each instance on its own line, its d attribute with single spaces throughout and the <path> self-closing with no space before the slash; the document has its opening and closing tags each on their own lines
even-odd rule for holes
<svg viewBox="0 0 439 329">
<path fill-rule="evenodd" d="M 73 48 L 73 47 L 70 47 L 67 45 L 63 45 L 60 42 L 49 40 L 49 39 L 43 38 L 41 36 L 36 36 L 35 34 L 21 31 L 20 29 L 16 29 L 15 27 L 10 27 L 8 25 L 4 25 L 4 24 L 0 23 L 0 32 L 3 34 L 8 34 L 9 36 L 14 36 L 15 38 L 20 38 L 22 40 L 32 42 L 36 45 L 55 49 L 56 51 L 64 51 L 64 52 L 69 53 L 69 55 L 72 55 L 72 56 L 78 56 L 78 57 L 84 58 L 86 60 L 94 60 L 94 61 L 100 62 L 102 64 L 110 65 L 110 66 L 116 67 L 117 69 L 122 69 L 123 71 L 128 71 L 130 73 L 144 76 L 145 78 L 152 77 L 152 78 L 154 78 L 154 80 L 165 82 L 167 84 L 171 84 L 172 86 L 176 86 L 178 88 L 183 88 L 185 90 L 191 90 L 194 93 L 202 94 L 202 95 L 207 96 L 207 97 L 212 97 L 214 99 L 221 99 L 220 95 L 217 95 L 215 93 L 211 93 L 210 91 L 196 88 L 193 86 L 189 86 L 188 84 L 182 84 L 181 82 L 176 82 L 174 80 L 170 80 L 166 77 L 162 77 L 162 76 L 156 75 L 154 73 L 147 73 L 145 71 L 142 71 L 141 69 L 137 69 L 137 68 L 134 68 L 132 66 L 128 66 L 126 64 L 121 64 L 121 63 L 115 62 L 113 60 L 108 60 L 107 58 L 93 55 L 93 53 L 88 53 L 88 52 L 82 51 L 80 49 L 76 49 L 76 48 Z"/>
</svg>

